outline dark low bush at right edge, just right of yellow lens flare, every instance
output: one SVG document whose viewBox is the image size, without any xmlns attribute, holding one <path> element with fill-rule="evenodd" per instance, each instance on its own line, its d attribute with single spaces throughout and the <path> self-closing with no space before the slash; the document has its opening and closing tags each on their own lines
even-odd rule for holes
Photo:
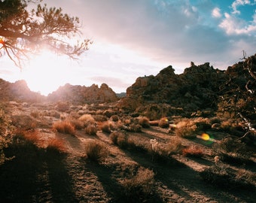
<svg viewBox="0 0 256 203">
<path fill-rule="evenodd" d="M 212 146 L 216 156 L 224 162 L 243 164 L 251 162 L 251 154 L 245 143 L 230 137 L 215 143 Z"/>
</svg>

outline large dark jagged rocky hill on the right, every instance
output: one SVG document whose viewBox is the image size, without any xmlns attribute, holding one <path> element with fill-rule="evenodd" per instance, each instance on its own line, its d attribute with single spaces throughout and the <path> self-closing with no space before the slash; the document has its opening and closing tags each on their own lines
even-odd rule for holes
<svg viewBox="0 0 256 203">
<path fill-rule="evenodd" d="M 224 109 L 234 114 L 254 111 L 256 54 L 226 71 L 213 68 L 209 62 L 203 65 L 191 62 L 182 74 L 174 71 L 170 65 L 156 76 L 138 77 L 126 89 L 126 98 L 120 99 L 119 107 L 148 117 L 149 114 L 187 116 L 198 111 L 215 114 Z"/>
</svg>

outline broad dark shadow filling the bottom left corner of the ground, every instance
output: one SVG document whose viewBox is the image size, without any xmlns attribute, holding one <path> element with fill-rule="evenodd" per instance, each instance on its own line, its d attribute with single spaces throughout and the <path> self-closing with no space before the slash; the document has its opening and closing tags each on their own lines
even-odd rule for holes
<svg viewBox="0 0 256 203">
<path fill-rule="evenodd" d="M 8 147 L 0 167 L 0 202 L 77 202 L 65 157 L 48 154 L 31 143 Z"/>
</svg>

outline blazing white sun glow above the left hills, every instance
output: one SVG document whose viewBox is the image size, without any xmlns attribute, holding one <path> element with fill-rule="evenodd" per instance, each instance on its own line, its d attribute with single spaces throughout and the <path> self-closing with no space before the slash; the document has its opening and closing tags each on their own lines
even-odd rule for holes
<svg viewBox="0 0 256 203">
<path fill-rule="evenodd" d="M 21 74 L 29 89 L 48 95 L 67 83 L 71 71 L 69 65 L 69 59 L 65 56 L 56 56 L 50 50 L 42 50 L 30 59 Z"/>
</svg>

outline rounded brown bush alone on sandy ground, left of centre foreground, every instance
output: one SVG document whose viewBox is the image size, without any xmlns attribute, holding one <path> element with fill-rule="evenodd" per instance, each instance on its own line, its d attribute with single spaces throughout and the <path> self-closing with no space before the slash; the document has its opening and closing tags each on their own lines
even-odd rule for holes
<svg viewBox="0 0 256 203">
<path fill-rule="evenodd" d="M 105 144 L 97 140 L 87 140 L 84 146 L 84 152 L 92 162 L 100 162 L 108 156 L 108 149 Z"/>
</svg>

